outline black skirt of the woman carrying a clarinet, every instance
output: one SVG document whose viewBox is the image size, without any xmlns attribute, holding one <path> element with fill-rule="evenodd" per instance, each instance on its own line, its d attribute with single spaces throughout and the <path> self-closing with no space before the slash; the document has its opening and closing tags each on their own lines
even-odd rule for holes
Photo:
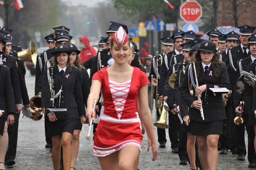
<svg viewBox="0 0 256 170">
<path fill-rule="evenodd" d="M 63 132 L 73 135 L 77 124 L 80 124 L 80 119 L 56 120 L 54 122 L 47 119 L 48 137 L 62 135 Z"/>
</svg>

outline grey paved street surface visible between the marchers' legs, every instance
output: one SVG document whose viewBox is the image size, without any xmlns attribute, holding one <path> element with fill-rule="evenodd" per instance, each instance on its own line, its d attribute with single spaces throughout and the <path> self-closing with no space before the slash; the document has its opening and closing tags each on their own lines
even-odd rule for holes
<svg viewBox="0 0 256 170">
<path fill-rule="evenodd" d="M 34 96 L 35 76 L 31 76 L 27 70 L 26 85 L 29 93 L 29 98 Z M 15 158 L 16 164 L 12 167 L 6 167 L 8 170 L 46 170 L 53 169 L 50 149 L 45 148 L 44 134 L 44 118 L 39 121 L 34 121 L 29 118 L 22 118 L 20 114 L 17 154 Z M 155 118 L 155 111 L 153 111 Z M 168 120 L 168 119 L 167 119 Z M 155 120 L 154 120 L 155 121 Z M 78 159 L 76 162 L 76 170 L 100 170 L 100 165 L 96 156 L 93 156 L 90 151 L 93 147 L 93 134 L 91 139 L 87 140 L 89 126 L 84 124 L 80 134 L 80 148 Z M 157 138 L 157 130 L 154 130 Z M 190 165 L 179 165 L 179 157 L 177 153 L 172 153 L 171 143 L 169 141 L 168 130 L 166 130 L 166 148 L 159 148 L 159 154 L 155 162 L 152 161 L 152 152 L 147 152 L 147 135 L 144 135 L 142 141 L 142 152 L 140 154 L 139 169 L 140 170 L 188 170 Z M 247 135 L 245 136 L 247 139 Z M 247 140 L 246 140 L 247 145 Z M 109 162 L 111 163 L 111 162 Z M 220 155 L 218 159 L 218 170 L 244 170 L 248 168 L 247 156 L 245 161 L 236 160 L 236 155 L 232 155 L 228 151 L 227 155 Z"/>
</svg>

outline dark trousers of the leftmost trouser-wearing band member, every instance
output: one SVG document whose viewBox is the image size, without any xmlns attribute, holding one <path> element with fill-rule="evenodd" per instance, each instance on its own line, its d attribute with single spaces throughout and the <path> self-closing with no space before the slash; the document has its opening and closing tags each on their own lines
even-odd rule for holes
<svg viewBox="0 0 256 170">
<path fill-rule="evenodd" d="M 5 160 L 15 159 L 17 150 L 17 140 L 18 140 L 18 127 L 19 127 L 19 114 L 14 114 L 14 123 L 8 126 L 7 132 L 9 136 L 8 150 L 5 155 Z"/>
</svg>

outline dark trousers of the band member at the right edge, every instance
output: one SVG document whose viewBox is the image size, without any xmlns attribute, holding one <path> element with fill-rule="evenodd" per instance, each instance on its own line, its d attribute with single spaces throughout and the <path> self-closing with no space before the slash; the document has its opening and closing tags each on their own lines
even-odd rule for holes
<svg viewBox="0 0 256 170">
<path fill-rule="evenodd" d="M 253 125 L 248 125 L 249 114 L 243 113 L 242 118 L 244 120 L 244 123 L 242 125 L 235 125 L 236 135 L 238 136 L 236 141 L 237 154 L 246 155 L 246 147 L 245 147 L 245 128 L 246 128 L 246 132 L 248 135 L 248 161 L 249 163 L 256 163 L 256 154 L 254 150 L 254 137 L 255 137 L 254 128 L 253 128 Z"/>
</svg>

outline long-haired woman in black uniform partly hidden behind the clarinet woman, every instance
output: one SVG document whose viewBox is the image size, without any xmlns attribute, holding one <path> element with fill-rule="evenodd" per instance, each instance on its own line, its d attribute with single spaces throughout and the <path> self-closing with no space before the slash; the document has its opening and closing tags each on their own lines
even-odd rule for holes
<svg viewBox="0 0 256 170">
<path fill-rule="evenodd" d="M 78 56 L 80 51 L 78 50 L 75 44 L 68 44 L 69 50 L 72 52 L 70 54 L 70 62 L 72 65 L 77 67 L 81 71 L 81 87 L 83 93 L 83 100 L 85 107 L 87 107 L 87 98 L 89 95 L 89 74 L 87 73 L 86 69 L 81 65 L 80 57 Z M 79 135 L 82 130 L 82 125 L 85 122 L 85 115 L 80 116 L 80 124 L 77 124 L 73 135 L 72 135 L 72 161 L 71 161 L 71 168 L 75 169 L 75 163 L 78 155 L 79 149 Z"/>
</svg>

